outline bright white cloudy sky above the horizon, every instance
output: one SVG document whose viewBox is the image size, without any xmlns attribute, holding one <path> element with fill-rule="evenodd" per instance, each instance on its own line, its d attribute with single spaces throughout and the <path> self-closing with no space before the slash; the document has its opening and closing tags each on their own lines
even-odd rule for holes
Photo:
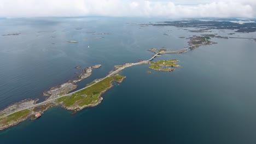
<svg viewBox="0 0 256 144">
<path fill-rule="evenodd" d="M 256 17 L 256 0 L 0 0 L 0 17 Z"/>
</svg>

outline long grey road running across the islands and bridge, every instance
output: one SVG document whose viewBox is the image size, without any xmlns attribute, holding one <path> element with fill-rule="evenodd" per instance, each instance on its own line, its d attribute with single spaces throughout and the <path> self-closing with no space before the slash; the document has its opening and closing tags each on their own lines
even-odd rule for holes
<svg viewBox="0 0 256 144">
<path fill-rule="evenodd" d="M 153 60 L 157 55 L 159 55 L 159 54 L 165 54 L 165 53 L 183 53 L 183 52 L 187 52 L 187 49 L 188 49 L 188 48 L 185 48 L 185 49 L 182 49 L 182 50 L 178 50 L 178 51 L 161 51 L 161 52 L 158 52 L 158 53 L 156 53 L 152 58 L 148 59 L 147 61 L 141 61 L 141 62 L 137 62 L 137 63 L 132 63 L 132 64 L 125 65 L 125 67 L 118 68 L 117 70 L 113 71 L 112 73 L 108 74 L 107 76 L 103 77 L 102 79 L 96 81 L 95 83 L 93 83 L 93 84 L 90 85 L 90 86 L 84 87 L 84 88 L 79 89 L 79 90 L 77 90 L 77 91 L 74 91 L 74 92 L 72 92 L 72 93 L 68 93 L 68 94 L 65 94 L 65 95 L 61 95 L 61 96 L 56 97 L 56 98 L 53 98 L 53 99 L 45 100 L 45 101 L 43 101 L 43 102 L 41 102 L 41 103 L 38 103 L 38 104 L 34 104 L 34 105 L 31 105 L 31 106 L 24 107 L 24 108 L 22 108 L 22 109 L 18 109 L 18 110 L 16 110 L 15 112 L 7 113 L 7 114 L 5 114 L 5 115 L 3 115 L 3 116 L 0 116 L 0 118 L 7 117 L 7 116 L 9 116 L 9 115 L 11 115 L 11 114 L 13 114 L 13 113 L 16 113 L 16 112 L 19 112 L 19 111 L 22 111 L 22 110 L 30 109 L 30 108 L 37 107 L 37 106 L 44 105 L 44 104 L 48 104 L 48 103 L 50 103 L 51 101 L 54 101 L 54 100 L 59 99 L 59 98 L 62 98 L 62 97 L 70 96 L 70 95 L 72 95 L 73 93 L 82 91 L 83 89 L 86 89 L 86 88 L 88 88 L 88 87 L 91 87 L 91 86 L 95 85 L 96 83 L 101 82 L 101 81 L 103 81 L 104 79 L 107 79 L 107 77 L 109 77 L 109 76 L 112 76 L 112 75 L 114 75 L 114 74 L 117 74 L 119 71 L 121 71 L 121 70 L 123 70 L 123 69 L 125 69 L 125 68 L 127 68 L 127 67 L 132 67 L 132 66 L 134 66 L 134 65 L 139 65 L 139 64 L 148 63 L 149 61 L 152 61 L 152 60 Z"/>
</svg>

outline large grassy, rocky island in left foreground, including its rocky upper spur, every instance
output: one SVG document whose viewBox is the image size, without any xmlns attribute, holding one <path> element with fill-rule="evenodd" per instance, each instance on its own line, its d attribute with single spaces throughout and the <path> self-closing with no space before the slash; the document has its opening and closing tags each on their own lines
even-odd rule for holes
<svg viewBox="0 0 256 144">
<path fill-rule="evenodd" d="M 0 111 L 0 130 L 25 121 L 27 118 L 36 119 L 37 113 L 42 113 L 52 106 L 62 106 L 67 110 L 79 111 L 85 107 L 96 106 L 101 103 L 101 95 L 113 87 L 113 82 L 121 83 L 125 76 L 113 74 L 104 79 L 97 79 L 88 84 L 84 89 L 70 94 L 77 87 L 76 82 L 86 79 L 92 73 L 92 69 L 100 68 L 101 64 L 83 69 L 77 80 L 69 80 L 60 86 L 52 87 L 43 95 L 49 98 L 36 104 L 37 100 L 25 99 L 10 105 Z M 63 95 L 63 96 L 62 96 Z"/>
</svg>

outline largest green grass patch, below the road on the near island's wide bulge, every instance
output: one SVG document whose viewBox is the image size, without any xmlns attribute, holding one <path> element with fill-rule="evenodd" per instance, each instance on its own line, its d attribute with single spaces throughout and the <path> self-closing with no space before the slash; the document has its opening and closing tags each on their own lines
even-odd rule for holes
<svg viewBox="0 0 256 144">
<path fill-rule="evenodd" d="M 59 103 L 63 101 L 65 106 L 72 106 L 74 104 L 78 104 L 79 106 L 95 104 L 100 98 L 101 92 L 106 91 L 106 89 L 112 86 L 111 82 L 113 80 L 119 81 L 123 78 L 124 76 L 121 75 L 107 77 L 95 85 L 76 92 L 71 96 L 59 98 L 56 100 L 56 102 Z"/>
</svg>

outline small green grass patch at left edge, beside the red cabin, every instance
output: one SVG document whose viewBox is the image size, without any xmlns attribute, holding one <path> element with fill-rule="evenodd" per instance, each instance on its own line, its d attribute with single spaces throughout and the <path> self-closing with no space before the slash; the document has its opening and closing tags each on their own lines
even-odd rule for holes
<svg viewBox="0 0 256 144">
<path fill-rule="evenodd" d="M 18 119 L 26 117 L 27 115 L 29 115 L 31 113 L 30 110 L 22 110 L 22 111 L 18 111 L 15 112 L 7 117 L 3 117 L 0 119 L 0 121 L 4 120 L 4 123 L 9 123 L 11 121 L 18 121 Z"/>
</svg>

